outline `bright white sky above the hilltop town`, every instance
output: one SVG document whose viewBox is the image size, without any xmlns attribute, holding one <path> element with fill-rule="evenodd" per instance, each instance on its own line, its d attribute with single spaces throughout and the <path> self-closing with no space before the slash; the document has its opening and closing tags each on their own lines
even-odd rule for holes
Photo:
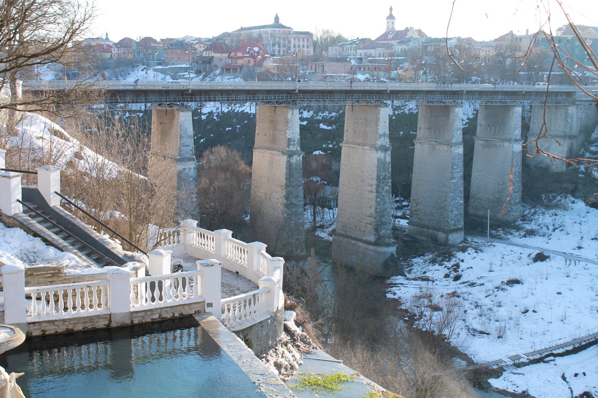
<svg viewBox="0 0 598 398">
<path fill-rule="evenodd" d="M 539 3 L 542 2 L 542 3 Z M 389 7 L 396 29 L 412 26 L 431 37 L 445 37 L 453 0 L 338 0 L 301 1 L 197 1 L 94 0 L 97 17 L 91 32 L 112 41 L 127 36 L 210 38 L 242 26 L 270 24 L 278 13 L 280 23 L 295 30 L 331 29 L 347 38 L 371 38 L 384 33 Z M 598 26 L 598 1 L 563 0 L 576 24 Z M 535 32 L 545 23 L 550 7 L 553 30 L 566 23 L 557 0 L 454 0 L 448 36 L 492 40 L 513 30 Z"/>
</svg>

